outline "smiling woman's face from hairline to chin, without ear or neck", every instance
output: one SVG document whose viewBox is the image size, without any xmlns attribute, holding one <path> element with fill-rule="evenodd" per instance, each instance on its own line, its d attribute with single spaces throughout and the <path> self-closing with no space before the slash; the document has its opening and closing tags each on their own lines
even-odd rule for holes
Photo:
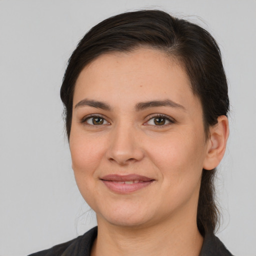
<svg viewBox="0 0 256 256">
<path fill-rule="evenodd" d="M 98 221 L 195 218 L 209 142 L 186 73 L 161 51 L 108 53 L 87 65 L 69 142 L 78 188 Z"/>
</svg>

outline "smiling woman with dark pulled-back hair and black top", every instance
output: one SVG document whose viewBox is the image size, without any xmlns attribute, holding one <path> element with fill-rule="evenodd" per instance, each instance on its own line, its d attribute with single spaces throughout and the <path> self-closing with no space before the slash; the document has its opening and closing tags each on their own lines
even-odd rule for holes
<svg viewBox="0 0 256 256">
<path fill-rule="evenodd" d="M 159 10 L 103 20 L 72 53 L 60 95 L 97 227 L 32 255 L 231 255 L 214 236 L 229 101 L 207 31 Z"/>
</svg>

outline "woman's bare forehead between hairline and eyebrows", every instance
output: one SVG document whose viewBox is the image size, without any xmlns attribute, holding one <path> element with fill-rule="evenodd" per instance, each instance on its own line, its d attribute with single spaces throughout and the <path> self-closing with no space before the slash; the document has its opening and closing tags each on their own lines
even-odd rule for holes
<svg viewBox="0 0 256 256">
<path fill-rule="evenodd" d="M 82 97 L 116 97 L 141 101 L 169 98 L 177 103 L 198 98 L 193 95 L 183 68 L 166 53 L 156 49 L 102 54 L 80 72 L 73 103 Z"/>
</svg>

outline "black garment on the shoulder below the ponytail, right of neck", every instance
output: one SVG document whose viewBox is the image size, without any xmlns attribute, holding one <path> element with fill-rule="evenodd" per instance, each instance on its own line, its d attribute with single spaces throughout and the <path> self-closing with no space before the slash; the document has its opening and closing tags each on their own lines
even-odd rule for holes
<svg viewBox="0 0 256 256">
<path fill-rule="evenodd" d="M 199 256 L 233 256 L 214 234 L 205 234 Z"/>
</svg>

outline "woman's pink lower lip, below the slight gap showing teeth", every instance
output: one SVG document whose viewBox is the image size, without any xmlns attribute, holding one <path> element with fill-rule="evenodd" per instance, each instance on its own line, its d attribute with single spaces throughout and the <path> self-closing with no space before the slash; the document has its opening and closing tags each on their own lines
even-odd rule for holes
<svg viewBox="0 0 256 256">
<path fill-rule="evenodd" d="M 103 180 L 101 179 L 102 182 L 106 185 L 108 189 L 110 189 L 113 192 L 121 193 L 121 194 L 126 194 L 126 193 L 131 193 L 134 191 L 137 191 L 141 188 L 144 188 L 148 185 L 150 185 L 153 180 L 149 181 L 143 181 L 143 182 L 138 182 L 138 183 L 132 183 L 132 184 L 125 184 L 125 183 L 117 183 L 115 181 L 108 181 L 108 180 Z"/>
</svg>

